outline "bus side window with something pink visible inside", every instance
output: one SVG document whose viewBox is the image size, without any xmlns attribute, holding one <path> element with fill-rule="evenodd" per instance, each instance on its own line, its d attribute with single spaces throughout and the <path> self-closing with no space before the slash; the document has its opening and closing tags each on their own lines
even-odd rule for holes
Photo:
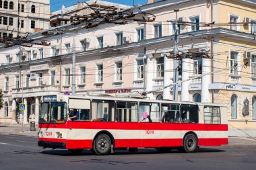
<svg viewBox="0 0 256 170">
<path fill-rule="evenodd" d="M 140 122 L 160 122 L 159 103 L 139 103 Z"/>
</svg>

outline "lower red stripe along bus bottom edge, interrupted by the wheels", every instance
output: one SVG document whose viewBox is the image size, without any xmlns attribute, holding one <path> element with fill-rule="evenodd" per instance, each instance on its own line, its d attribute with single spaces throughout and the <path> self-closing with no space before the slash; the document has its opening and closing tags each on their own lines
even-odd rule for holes
<svg viewBox="0 0 256 170">
<path fill-rule="evenodd" d="M 46 142 L 66 142 L 68 149 L 72 148 L 92 148 L 92 140 L 62 140 L 56 138 L 39 138 Z M 199 146 L 220 146 L 228 144 L 228 138 L 199 138 Z M 166 139 L 117 139 L 115 148 L 137 148 L 137 147 L 164 147 L 164 146 L 183 146 L 182 138 Z"/>
</svg>

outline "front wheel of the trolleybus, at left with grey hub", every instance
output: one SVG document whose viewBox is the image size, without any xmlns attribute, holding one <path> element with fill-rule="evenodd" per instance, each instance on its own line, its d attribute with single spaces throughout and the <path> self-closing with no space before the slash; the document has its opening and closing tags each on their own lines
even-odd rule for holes
<svg viewBox="0 0 256 170">
<path fill-rule="evenodd" d="M 94 140 L 93 146 L 96 155 L 108 155 L 111 151 L 111 140 L 106 134 L 100 134 Z"/>
</svg>

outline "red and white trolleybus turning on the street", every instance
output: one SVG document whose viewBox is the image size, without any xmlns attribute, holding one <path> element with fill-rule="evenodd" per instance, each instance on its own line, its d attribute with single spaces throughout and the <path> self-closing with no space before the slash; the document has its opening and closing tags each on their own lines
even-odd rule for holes
<svg viewBox="0 0 256 170">
<path fill-rule="evenodd" d="M 193 153 L 228 144 L 226 107 L 218 104 L 105 96 L 44 97 L 38 146 L 108 155 L 119 148 Z"/>
</svg>

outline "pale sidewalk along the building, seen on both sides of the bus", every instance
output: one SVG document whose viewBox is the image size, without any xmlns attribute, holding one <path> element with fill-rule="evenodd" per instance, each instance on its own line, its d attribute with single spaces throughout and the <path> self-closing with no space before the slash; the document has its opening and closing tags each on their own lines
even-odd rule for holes
<svg viewBox="0 0 256 170">
<path fill-rule="evenodd" d="M 0 134 L 12 134 L 12 135 L 20 135 L 20 136 L 35 136 L 38 134 L 38 127 L 36 127 L 36 131 L 30 131 L 30 125 L 26 124 L 23 127 L 21 125 L 5 125 L 0 124 Z M 240 137 L 229 137 L 228 138 L 228 146 L 239 146 L 239 145 L 256 145 L 256 138 L 240 138 Z"/>
</svg>

